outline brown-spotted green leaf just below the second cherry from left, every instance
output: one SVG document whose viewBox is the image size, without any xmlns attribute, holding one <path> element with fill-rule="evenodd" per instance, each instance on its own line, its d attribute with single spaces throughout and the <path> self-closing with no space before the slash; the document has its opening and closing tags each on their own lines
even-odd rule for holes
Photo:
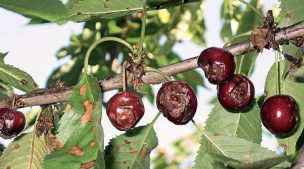
<svg viewBox="0 0 304 169">
<path fill-rule="evenodd" d="M 152 125 L 136 127 L 111 139 L 106 147 L 106 168 L 149 169 L 150 153 L 158 144 Z"/>
</svg>

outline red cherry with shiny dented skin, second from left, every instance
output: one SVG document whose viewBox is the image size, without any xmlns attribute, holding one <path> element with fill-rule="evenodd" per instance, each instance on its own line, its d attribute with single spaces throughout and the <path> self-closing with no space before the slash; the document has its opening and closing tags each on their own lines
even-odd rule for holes
<svg viewBox="0 0 304 169">
<path fill-rule="evenodd" d="M 107 103 L 107 115 L 118 130 L 133 128 L 143 117 L 145 108 L 139 96 L 125 91 L 115 94 Z"/>
</svg>

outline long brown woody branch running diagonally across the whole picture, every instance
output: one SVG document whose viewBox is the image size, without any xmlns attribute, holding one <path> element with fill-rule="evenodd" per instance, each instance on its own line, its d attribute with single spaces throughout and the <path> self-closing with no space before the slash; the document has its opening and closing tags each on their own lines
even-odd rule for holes
<svg viewBox="0 0 304 169">
<path fill-rule="evenodd" d="M 304 21 L 280 29 L 280 31 L 275 34 L 275 41 L 278 44 L 284 44 L 286 41 L 289 41 L 292 38 L 302 36 L 304 36 Z M 226 49 L 228 49 L 235 56 L 256 50 L 249 40 L 228 46 Z M 163 66 L 159 69 L 171 76 L 197 68 L 196 62 L 197 56 L 171 65 Z M 116 75 L 114 77 L 100 80 L 99 83 L 103 91 L 109 91 L 121 88 L 121 79 L 121 75 Z M 143 81 L 148 84 L 161 83 L 163 80 L 164 79 L 162 76 L 152 72 L 147 72 L 146 75 L 143 76 Z M 65 87 L 60 89 L 40 89 L 36 92 L 16 96 L 16 105 L 17 107 L 21 108 L 63 102 L 68 99 L 69 95 L 72 92 L 72 89 L 72 87 Z M 11 98 L 1 99 L 0 108 L 10 107 L 11 101 Z"/>
</svg>

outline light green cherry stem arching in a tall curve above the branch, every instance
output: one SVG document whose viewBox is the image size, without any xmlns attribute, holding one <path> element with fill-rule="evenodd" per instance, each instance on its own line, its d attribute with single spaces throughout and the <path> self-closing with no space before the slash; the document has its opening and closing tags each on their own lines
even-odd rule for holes
<svg viewBox="0 0 304 169">
<path fill-rule="evenodd" d="M 89 66 L 89 57 L 90 57 L 91 52 L 98 44 L 100 44 L 102 42 L 106 42 L 106 41 L 115 41 L 115 42 L 121 43 L 121 44 L 125 45 L 127 48 L 129 48 L 130 51 L 133 52 L 132 46 L 123 39 L 120 39 L 117 37 L 104 37 L 104 38 L 98 39 L 89 47 L 89 49 L 87 50 L 87 53 L 85 55 L 85 58 L 84 58 L 84 70 L 87 74 L 89 74 L 88 66 Z"/>
</svg>

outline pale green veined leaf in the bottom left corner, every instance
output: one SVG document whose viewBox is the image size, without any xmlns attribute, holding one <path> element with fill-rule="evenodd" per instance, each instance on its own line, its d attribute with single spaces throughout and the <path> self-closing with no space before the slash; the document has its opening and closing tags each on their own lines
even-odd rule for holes
<svg viewBox="0 0 304 169">
<path fill-rule="evenodd" d="M 17 137 L 0 157 L 3 169 L 42 169 L 41 162 L 47 155 L 44 137 L 36 137 L 30 132 Z"/>
</svg>

